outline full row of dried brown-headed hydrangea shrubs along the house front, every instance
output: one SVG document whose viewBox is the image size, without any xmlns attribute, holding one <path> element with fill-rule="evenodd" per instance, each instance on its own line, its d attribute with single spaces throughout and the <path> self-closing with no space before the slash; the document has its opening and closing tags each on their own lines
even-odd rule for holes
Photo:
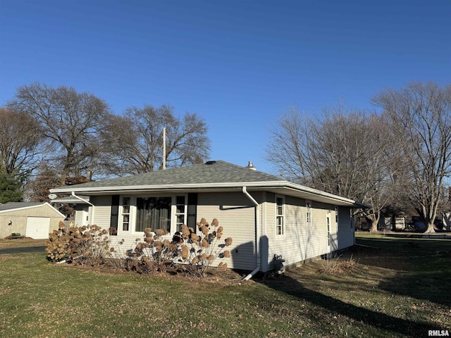
<svg viewBox="0 0 451 338">
<path fill-rule="evenodd" d="M 144 241 L 137 238 L 135 246 L 121 251 L 111 246 L 109 230 L 97 225 L 84 227 L 61 227 L 50 234 L 46 242 L 47 258 L 51 261 L 74 261 L 84 265 L 108 265 L 136 271 L 137 273 L 166 272 L 168 269 L 182 271 L 197 277 L 204 277 L 206 271 L 219 258 L 230 258 L 225 250 L 233 242 L 231 237 L 223 239 L 223 227 L 215 218 L 209 224 L 204 218 L 197 223 L 198 234 L 194 229 L 182 226 L 173 239 L 168 239 L 166 230 L 144 229 Z M 227 268 L 220 261 L 218 268 Z"/>
</svg>

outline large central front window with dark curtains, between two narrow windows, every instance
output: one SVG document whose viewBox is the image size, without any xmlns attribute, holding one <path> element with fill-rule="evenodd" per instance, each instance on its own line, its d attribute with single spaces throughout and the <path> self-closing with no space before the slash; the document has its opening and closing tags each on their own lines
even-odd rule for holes
<svg viewBox="0 0 451 338">
<path fill-rule="evenodd" d="M 137 197 L 135 231 L 147 227 L 171 232 L 171 197 Z"/>
</svg>

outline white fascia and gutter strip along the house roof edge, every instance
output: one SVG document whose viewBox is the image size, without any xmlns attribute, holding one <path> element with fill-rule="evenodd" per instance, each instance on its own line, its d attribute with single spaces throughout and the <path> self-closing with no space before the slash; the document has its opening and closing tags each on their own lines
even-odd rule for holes
<svg viewBox="0 0 451 338">
<path fill-rule="evenodd" d="M 226 182 L 226 183 L 204 183 L 204 184 L 156 184 L 156 185 L 130 185 L 119 187 L 63 187 L 50 189 L 54 194 L 71 194 L 85 193 L 85 194 L 97 194 L 97 193 L 118 193 L 118 192 L 144 192 L 144 191 L 159 191 L 167 189 L 212 189 L 212 188 L 288 188 L 297 190 L 299 192 L 306 192 L 308 194 L 321 196 L 330 201 L 340 201 L 350 206 L 360 206 L 362 208 L 369 208 L 366 204 L 361 204 L 352 199 L 347 199 L 342 196 L 330 194 L 328 192 L 322 192 L 318 189 L 304 187 L 303 185 L 288 182 L 288 181 L 271 181 L 271 182 Z"/>
</svg>

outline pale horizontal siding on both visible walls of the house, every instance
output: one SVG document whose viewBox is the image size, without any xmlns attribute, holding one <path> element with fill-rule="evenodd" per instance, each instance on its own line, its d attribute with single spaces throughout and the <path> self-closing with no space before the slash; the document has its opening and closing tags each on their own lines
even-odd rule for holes
<svg viewBox="0 0 451 338">
<path fill-rule="evenodd" d="M 307 208 L 304 199 L 291 196 L 285 198 L 285 231 L 276 235 L 276 195 L 269 192 L 251 192 L 254 199 L 264 201 L 259 206 L 261 220 L 261 270 L 266 272 L 273 268 L 273 256 L 282 255 L 285 265 L 300 263 L 309 258 L 321 256 L 338 249 L 354 245 L 354 228 L 350 218 L 350 209 L 338 208 L 338 225 L 335 223 L 335 206 L 311 201 L 311 222 L 307 224 Z M 279 195 L 278 195 L 279 196 Z M 104 229 L 109 229 L 111 218 L 111 196 L 94 196 L 94 222 Z M 330 212 L 330 213 L 328 213 Z M 89 216 L 92 208 L 89 208 Z M 227 247 L 231 257 L 225 258 L 229 268 L 254 270 L 257 266 L 256 208 L 242 192 L 216 192 L 197 194 L 197 222 L 205 218 L 209 223 L 217 218 L 223 226 L 223 239 L 233 238 L 233 244 Z M 330 245 L 326 218 L 330 218 Z M 77 219 L 77 215 L 76 215 Z M 260 224 L 260 223 L 259 223 Z M 133 226 L 133 225 L 130 225 Z M 125 252 L 135 246 L 136 239 L 143 239 L 143 234 L 121 234 L 119 219 L 118 236 L 111 236 L 111 244 L 121 239 L 125 242 L 118 249 Z M 168 235 L 172 239 L 173 234 Z M 216 264 L 221 260 L 217 259 Z"/>
</svg>

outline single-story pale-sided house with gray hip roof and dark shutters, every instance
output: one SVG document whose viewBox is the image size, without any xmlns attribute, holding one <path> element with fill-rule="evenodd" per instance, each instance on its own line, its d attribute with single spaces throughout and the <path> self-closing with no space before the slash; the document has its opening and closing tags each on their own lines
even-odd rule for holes
<svg viewBox="0 0 451 338">
<path fill-rule="evenodd" d="M 113 228 L 130 248 L 144 228 L 196 228 L 205 218 L 223 226 L 229 268 L 267 272 L 282 255 L 297 265 L 354 245 L 352 208 L 364 204 L 224 161 L 51 189 L 77 204 L 75 225 Z M 58 200 L 56 200 L 58 202 Z"/>
</svg>

